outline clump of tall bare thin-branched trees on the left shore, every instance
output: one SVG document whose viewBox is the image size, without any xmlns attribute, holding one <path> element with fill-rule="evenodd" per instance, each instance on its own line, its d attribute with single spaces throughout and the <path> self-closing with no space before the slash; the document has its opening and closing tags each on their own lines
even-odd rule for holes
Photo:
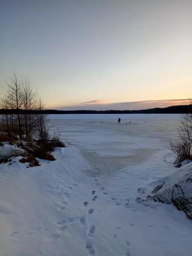
<svg viewBox="0 0 192 256">
<path fill-rule="evenodd" d="M 7 114 L 1 115 L 1 127 L 5 135 L 18 132 L 19 139 L 31 141 L 34 136 L 40 144 L 45 145 L 50 139 L 49 115 L 45 114 L 45 104 L 39 98 L 38 90 L 34 89 L 28 77 L 22 80 L 16 74 L 6 82 L 5 95 L 1 107 Z"/>
</svg>

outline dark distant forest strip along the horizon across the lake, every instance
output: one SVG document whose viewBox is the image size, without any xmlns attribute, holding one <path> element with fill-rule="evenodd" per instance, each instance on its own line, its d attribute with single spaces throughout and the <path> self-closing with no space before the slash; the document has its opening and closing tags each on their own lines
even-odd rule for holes
<svg viewBox="0 0 192 256">
<path fill-rule="evenodd" d="M 141 110 L 19 110 L 20 114 L 182 114 L 192 113 L 192 105 L 178 105 L 166 108 L 150 108 Z M 17 114 L 16 109 L 0 109 L 0 114 Z"/>
</svg>

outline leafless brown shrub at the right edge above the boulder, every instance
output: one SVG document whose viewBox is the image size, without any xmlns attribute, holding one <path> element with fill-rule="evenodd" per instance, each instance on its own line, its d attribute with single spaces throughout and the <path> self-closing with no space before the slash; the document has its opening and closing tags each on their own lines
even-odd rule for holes
<svg viewBox="0 0 192 256">
<path fill-rule="evenodd" d="M 192 100 L 189 99 L 190 104 Z M 169 140 L 167 148 L 175 157 L 175 164 L 179 166 L 185 159 L 192 160 L 192 113 L 181 114 L 177 129 L 177 140 Z"/>
</svg>

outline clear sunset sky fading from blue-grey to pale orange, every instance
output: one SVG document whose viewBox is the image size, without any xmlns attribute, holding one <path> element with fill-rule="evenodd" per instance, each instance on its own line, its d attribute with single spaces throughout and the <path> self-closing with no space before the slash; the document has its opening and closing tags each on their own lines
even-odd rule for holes
<svg viewBox="0 0 192 256">
<path fill-rule="evenodd" d="M 192 97 L 192 1 L 0 0 L 0 96 L 15 72 L 54 109 Z"/>
</svg>

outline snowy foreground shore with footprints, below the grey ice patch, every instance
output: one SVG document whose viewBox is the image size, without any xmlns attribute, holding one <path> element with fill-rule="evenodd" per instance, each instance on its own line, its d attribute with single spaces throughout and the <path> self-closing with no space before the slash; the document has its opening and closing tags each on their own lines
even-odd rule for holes
<svg viewBox="0 0 192 256">
<path fill-rule="evenodd" d="M 1 255 L 192 254 L 192 224 L 184 213 L 135 202 L 138 186 L 149 183 L 146 171 L 92 175 L 76 148 L 57 148 L 55 155 L 57 161 L 40 160 L 39 167 L 26 168 L 19 157 L 2 164 Z"/>
</svg>

